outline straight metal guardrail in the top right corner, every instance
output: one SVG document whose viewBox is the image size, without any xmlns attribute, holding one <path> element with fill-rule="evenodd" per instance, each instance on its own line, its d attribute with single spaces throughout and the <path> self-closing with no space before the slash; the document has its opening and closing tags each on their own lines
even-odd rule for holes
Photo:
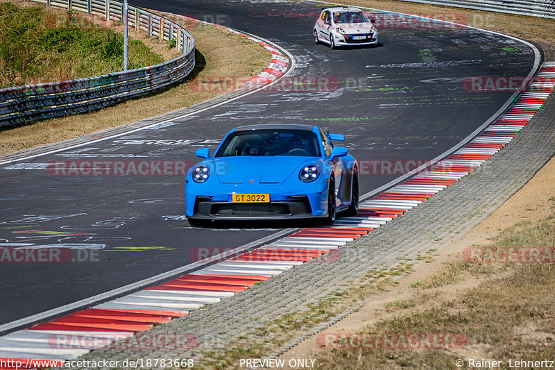
<svg viewBox="0 0 555 370">
<path fill-rule="evenodd" d="M 555 0 L 398 0 L 555 19 Z"/>
</svg>

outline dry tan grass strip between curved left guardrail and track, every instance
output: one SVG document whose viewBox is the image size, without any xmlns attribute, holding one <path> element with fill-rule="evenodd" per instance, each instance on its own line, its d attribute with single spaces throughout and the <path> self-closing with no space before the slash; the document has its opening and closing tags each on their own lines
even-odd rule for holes
<svg viewBox="0 0 555 370">
<path fill-rule="evenodd" d="M 195 37 L 197 49 L 197 66 L 191 76 L 254 76 L 270 61 L 270 53 L 266 49 L 216 26 L 198 24 L 191 28 L 191 33 Z M 167 49 L 166 42 L 160 44 Z M 60 142 L 162 115 L 222 93 L 221 90 L 212 89 L 197 91 L 194 83 L 186 82 L 157 95 L 127 101 L 86 115 L 37 121 L 28 126 L 0 131 L 0 154 Z"/>
</svg>

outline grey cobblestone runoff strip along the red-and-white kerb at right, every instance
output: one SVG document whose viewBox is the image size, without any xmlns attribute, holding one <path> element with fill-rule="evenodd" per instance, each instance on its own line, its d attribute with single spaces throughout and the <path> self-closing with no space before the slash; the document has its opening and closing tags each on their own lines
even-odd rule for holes
<svg viewBox="0 0 555 370">
<path fill-rule="evenodd" d="M 434 240 L 464 233 L 479 224 L 527 183 L 554 152 L 555 95 L 552 94 L 544 108 L 502 151 L 418 207 L 340 249 L 341 258 L 336 262 L 294 267 L 232 298 L 191 312 L 188 317 L 157 326 L 149 333 L 196 335 L 200 341 L 196 348 L 188 351 L 101 349 L 83 360 L 194 358 L 195 367 L 203 368 L 209 357 L 225 358 L 225 353 L 237 348 L 268 344 L 271 334 L 266 328 L 283 314 L 305 311 L 310 303 L 346 289 L 350 283 L 356 284 L 368 271 L 393 267 L 400 260 L 441 248 Z M 309 330 L 290 333 L 291 342 L 271 348 L 265 355 L 273 357 L 282 353 L 348 312 Z M 248 353 L 245 357 L 249 357 Z"/>
</svg>

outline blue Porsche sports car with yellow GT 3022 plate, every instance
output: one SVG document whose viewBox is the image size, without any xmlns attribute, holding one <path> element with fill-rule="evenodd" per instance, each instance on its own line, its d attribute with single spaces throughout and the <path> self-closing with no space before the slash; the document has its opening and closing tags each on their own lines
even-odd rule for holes
<svg viewBox="0 0 555 370">
<path fill-rule="evenodd" d="M 332 140 L 345 135 L 317 126 L 271 124 L 234 128 L 214 155 L 187 171 L 189 224 L 209 220 L 320 219 L 333 224 L 336 212 L 359 208 L 355 158 Z"/>
</svg>

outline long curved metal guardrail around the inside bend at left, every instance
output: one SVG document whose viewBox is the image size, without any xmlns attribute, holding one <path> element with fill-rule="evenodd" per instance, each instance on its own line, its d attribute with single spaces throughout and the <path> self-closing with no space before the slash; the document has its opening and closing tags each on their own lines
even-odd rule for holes
<svg viewBox="0 0 555 370">
<path fill-rule="evenodd" d="M 105 21 L 121 22 L 123 3 L 115 0 L 31 0 L 67 10 L 87 12 Z M 160 41 L 176 40 L 178 58 L 159 65 L 80 78 L 0 89 L 0 126 L 12 126 L 112 106 L 182 81 L 195 65 L 194 38 L 183 26 L 160 15 L 128 7 L 128 24 Z"/>
</svg>

